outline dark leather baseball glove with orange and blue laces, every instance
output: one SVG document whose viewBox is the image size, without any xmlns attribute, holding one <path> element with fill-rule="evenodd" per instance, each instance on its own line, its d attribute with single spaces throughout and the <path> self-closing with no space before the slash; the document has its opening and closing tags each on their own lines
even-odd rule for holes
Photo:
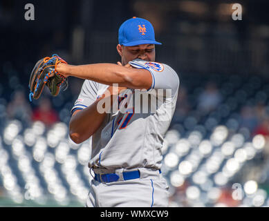
<svg viewBox="0 0 269 221">
<path fill-rule="evenodd" d="M 66 82 L 66 88 L 68 82 L 66 77 L 57 73 L 56 67 L 59 63 L 66 63 L 58 55 L 53 55 L 52 57 L 45 57 L 40 59 L 35 64 L 35 67 L 32 70 L 29 80 L 30 94 L 29 99 L 32 102 L 32 97 L 38 99 L 44 89 L 44 86 L 48 86 L 50 94 L 57 96 L 59 94 L 59 88 L 63 82 Z"/>
</svg>

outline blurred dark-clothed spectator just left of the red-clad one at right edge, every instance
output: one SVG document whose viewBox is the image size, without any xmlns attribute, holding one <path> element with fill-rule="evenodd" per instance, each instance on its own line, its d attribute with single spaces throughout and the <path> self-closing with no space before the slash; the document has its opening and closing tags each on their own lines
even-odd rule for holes
<svg viewBox="0 0 269 221">
<path fill-rule="evenodd" d="M 258 124 L 258 118 L 251 106 L 243 106 L 241 108 L 241 127 L 248 128 L 252 133 Z"/>
</svg>

